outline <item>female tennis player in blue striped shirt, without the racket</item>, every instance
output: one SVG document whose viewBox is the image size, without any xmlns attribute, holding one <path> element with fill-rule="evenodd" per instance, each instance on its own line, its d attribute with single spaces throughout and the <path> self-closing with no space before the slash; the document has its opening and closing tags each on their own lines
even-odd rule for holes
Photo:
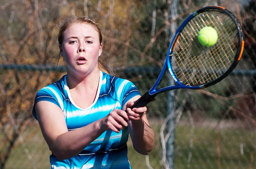
<svg viewBox="0 0 256 169">
<path fill-rule="evenodd" d="M 102 35 L 94 21 L 71 17 L 59 28 L 67 74 L 36 94 L 32 110 L 52 152 L 51 167 L 131 168 L 128 134 L 137 152 L 147 155 L 154 147 L 147 107 L 129 108 L 141 97 L 138 89 L 99 64 Z"/>
</svg>

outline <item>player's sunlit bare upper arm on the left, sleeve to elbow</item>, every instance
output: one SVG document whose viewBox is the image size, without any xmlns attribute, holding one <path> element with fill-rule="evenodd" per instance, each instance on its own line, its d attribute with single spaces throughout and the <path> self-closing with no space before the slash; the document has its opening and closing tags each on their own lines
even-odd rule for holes
<svg viewBox="0 0 256 169">
<path fill-rule="evenodd" d="M 63 112 L 56 104 L 49 101 L 37 102 L 35 112 L 42 134 L 51 149 L 57 137 L 68 131 Z"/>
</svg>

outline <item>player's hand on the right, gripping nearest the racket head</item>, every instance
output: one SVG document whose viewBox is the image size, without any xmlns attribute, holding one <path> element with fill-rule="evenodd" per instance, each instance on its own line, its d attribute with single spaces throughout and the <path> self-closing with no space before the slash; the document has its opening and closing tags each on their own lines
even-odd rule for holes
<svg viewBox="0 0 256 169">
<path fill-rule="evenodd" d="M 146 114 L 147 107 L 139 107 L 139 108 L 129 108 L 133 106 L 134 102 L 128 102 L 127 103 L 127 115 L 129 117 L 129 120 L 141 120 L 142 117 Z"/>
</svg>

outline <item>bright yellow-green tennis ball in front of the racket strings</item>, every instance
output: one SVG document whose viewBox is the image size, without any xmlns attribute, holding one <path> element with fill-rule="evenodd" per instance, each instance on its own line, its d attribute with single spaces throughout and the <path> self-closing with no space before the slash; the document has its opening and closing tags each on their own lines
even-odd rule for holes
<svg viewBox="0 0 256 169">
<path fill-rule="evenodd" d="M 201 45 L 206 47 L 211 47 L 214 44 L 216 44 L 218 39 L 218 34 L 213 27 L 206 26 L 199 31 L 197 39 Z"/>
</svg>

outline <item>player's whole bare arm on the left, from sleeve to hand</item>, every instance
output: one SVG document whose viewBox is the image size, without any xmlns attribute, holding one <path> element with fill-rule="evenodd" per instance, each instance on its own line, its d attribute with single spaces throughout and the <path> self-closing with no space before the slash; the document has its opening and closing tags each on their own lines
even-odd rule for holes
<svg viewBox="0 0 256 169">
<path fill-rule="evenodd" d="M 63 112 L 57 105 L 40 101 L 36 104 L 35 110 L 44 139 L 52 153 L 60 160 L 79 154 L 104 131 L 120 132 L 128 125 L 127 113 L 115 109 L 104 118 L 68 131 Z"/>
</svg>

